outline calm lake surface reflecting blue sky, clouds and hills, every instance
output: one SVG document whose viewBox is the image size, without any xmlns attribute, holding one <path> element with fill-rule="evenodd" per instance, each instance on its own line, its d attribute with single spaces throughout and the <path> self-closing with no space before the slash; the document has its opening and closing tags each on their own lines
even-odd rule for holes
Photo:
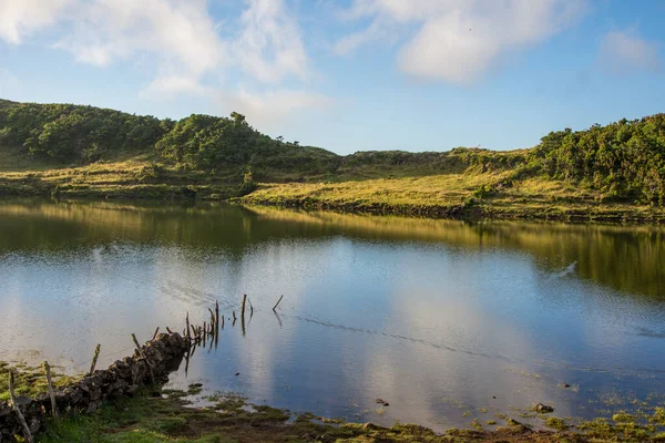
<svg viewBox="0 0 665 443">
<path fill-rule="evenodd" d="M 229 316 L 247 293 L 245 334 L 227 322 L 171 383 L 294 411 L 443 430 L 665 394 L 657 227 L 2 202 L 0 281 L 0 359 L 69 371 L 96 343 L 106 365 L 131 332 L 206 320 L 215 300 Z"/>
</svg>

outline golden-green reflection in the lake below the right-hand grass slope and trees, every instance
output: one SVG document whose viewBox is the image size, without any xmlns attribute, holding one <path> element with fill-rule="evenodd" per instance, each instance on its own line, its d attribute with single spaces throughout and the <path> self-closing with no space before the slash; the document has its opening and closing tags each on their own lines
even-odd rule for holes
<svg viewBox="0 0 665 443">
<path fill-rule="evenodd" d="M 502 248 L 533 255 L 555 271 L 576 261 L 579 277 L 665 300 L 665 229 L 656 226 L 524 222 L 464 223 L 405 217 L 252 208 L 263 219 L 320 226 L 327 234 L 376 240 L 441 241 L 464 248 Z"/>
</svg>

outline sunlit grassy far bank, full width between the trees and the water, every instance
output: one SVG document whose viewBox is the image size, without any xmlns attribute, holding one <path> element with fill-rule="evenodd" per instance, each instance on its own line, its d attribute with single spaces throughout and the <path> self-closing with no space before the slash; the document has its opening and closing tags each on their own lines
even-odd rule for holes
<svg viewBox="0 0 665 443">
<path fill-rule="evenodd" d="M 265 178 L 269 179 L 269 178 Z M 228 202 L 255 206 L 420 218 L 665 224 L 665 207 L 612 199 L 598 190 L 511 172 L 362 175 L 243 183 L 231 173 L 206 174 L 130 159 L 45 171 L 0 171 L 0 198 Z"/>
</svg>

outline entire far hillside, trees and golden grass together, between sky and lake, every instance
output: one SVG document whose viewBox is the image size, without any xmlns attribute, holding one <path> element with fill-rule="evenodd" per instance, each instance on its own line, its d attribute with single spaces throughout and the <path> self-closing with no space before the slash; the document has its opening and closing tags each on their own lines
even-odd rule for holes
<svg viewBox="0 0 665 443">
<path fill-rule="evenodd" d="M 228 199 L 424 216 L 661 220 L 665 114 L 530 150 L 332 152 L 245 117 L 181 121 L 0 100 L 0 195 Z"/>
</svg>

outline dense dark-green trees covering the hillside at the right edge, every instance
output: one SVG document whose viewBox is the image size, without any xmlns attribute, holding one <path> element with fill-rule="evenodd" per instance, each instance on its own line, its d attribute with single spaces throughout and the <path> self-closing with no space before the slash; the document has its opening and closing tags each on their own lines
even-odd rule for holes
<svg viewBox="0 0 665 443">
<path fill-rule="evenodd" d="M 607 198 L 665 206 L 665 114 L 552 132 L 530 159 L 549 177 L 598 189 Z"/>
</svg>

